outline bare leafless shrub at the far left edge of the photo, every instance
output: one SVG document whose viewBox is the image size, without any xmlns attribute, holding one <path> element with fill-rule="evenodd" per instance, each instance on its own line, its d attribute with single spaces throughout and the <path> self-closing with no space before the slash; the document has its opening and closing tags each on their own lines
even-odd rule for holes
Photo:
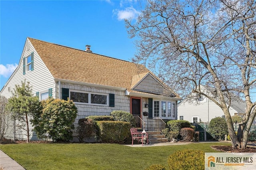
<svg viewBox="0 0 256 170">
<path fill-rule="evenodd" d="M 7 103 L 8 100 L 4 96 L 0 96 L 0 143 L 2 142 L 8 128 L 8 118 L 10 114 L 6 109 Z"/>
</svg>

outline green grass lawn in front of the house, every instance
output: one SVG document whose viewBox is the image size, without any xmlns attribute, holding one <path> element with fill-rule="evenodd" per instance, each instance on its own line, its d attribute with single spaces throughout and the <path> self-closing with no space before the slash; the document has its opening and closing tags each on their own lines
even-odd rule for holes
<svg viewBox="0 0 256 170">
<path fill-rule="evenodd" d="M 212 145 L 224 142 L 185 145 L 130 147 L 119 144 L 0 144 L 0 149 L 27 170 L 144 170 L 152 164 L 168 167 L 167 159 L 176 150 L 217 152 Z"/>
</svg>

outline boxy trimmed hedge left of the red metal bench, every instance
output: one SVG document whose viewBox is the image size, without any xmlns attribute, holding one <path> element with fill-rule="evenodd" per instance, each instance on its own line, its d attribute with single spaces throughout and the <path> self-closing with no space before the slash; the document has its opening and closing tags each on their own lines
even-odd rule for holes
<svg viewBox="0 0 256 170">
<path fill-rule="evenodd" d="M 124 143 L 130 136 L 130 123 L 122 121 L 97 121 L 96 139 L 103 143 Z"/>
</svg>

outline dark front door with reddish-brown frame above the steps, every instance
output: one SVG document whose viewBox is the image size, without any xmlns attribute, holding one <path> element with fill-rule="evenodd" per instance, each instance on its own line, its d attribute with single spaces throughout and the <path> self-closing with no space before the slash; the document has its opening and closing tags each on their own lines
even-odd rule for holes
<svg viewBox="0 0 256 170">
<path fill-rule="evenodd" d="M 141 98 L 131 97 L 131 113 L 133 116 L 138 116 L 141 118 Z M 135 117 L 137 127 L 141 127 L 140 118 Z"/>
</svg>

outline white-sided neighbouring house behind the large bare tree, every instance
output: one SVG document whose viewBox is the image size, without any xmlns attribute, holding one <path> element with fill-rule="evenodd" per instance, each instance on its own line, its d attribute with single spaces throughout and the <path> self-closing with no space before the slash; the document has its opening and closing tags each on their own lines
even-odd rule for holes
<svg viewBox="0 0 256 170">
<path fill-rule="evenodd" d="M 212 89 L 205 85 L 200 85 L 201 91 L 212 94 Z M 192 93 L 190 93 L 192 95 Z M 189 95 L 188 95 L 189 96 Z M 232 100 L 229 107 L 230 115 L 240 115 L 243 117 L 245 113 L 246 103 L 244 101 L 238 102 Z M 224 117 L 222 109 L 216 103 L 207 97 L 186 97 L 178 103 L 178 120 L 186 120 L 193 124 L 197 122 L 210 122 L 215 117 Z"/>
</svg>

